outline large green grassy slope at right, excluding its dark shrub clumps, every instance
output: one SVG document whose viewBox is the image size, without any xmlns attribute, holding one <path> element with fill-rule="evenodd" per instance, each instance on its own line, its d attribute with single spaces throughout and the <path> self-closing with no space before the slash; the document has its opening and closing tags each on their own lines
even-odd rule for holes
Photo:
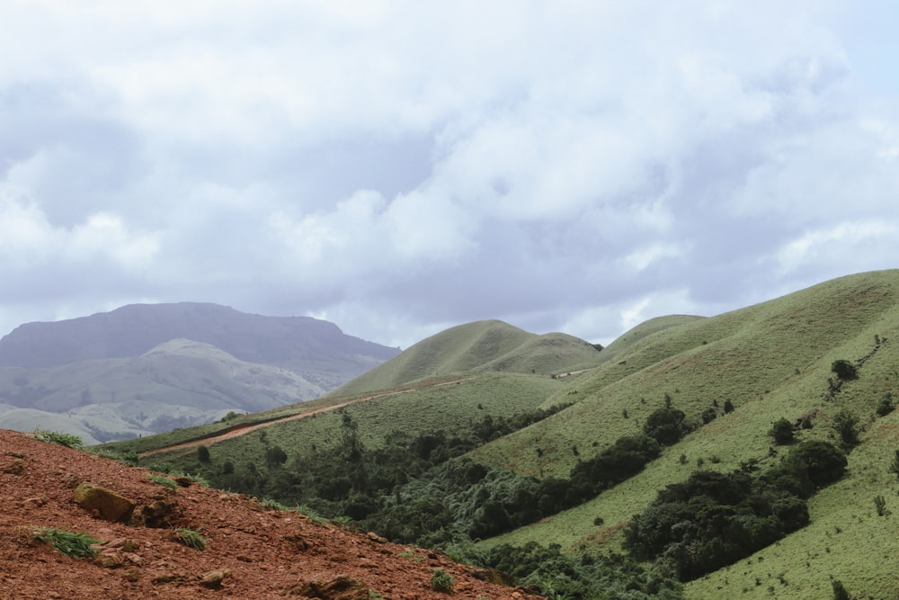
<svg viewBox="0 0 899 600">
<path fill-rule="evenodd" d="M 726 472 L 745 461 L 777 464 L 769 431 L 780 417 L 796 422 L 810 416 L 814 426 L 800 432 L 801 439 L 833 441 L 833 418 L 846 408 L 860 419 L 861 443 L 849 453 L 849 475 L 810 500 L 811 523 L 776 548 L 691 582 L 686 596 L 830 597 L 833 577 L 859 597 L 895 597 L 899 587 L 885 577 L 899 569 L 895 551 L 886 551 L 895 543 L 889 533 L 893 517 L 877 516 L 873 498 L 895 504 L 896 478 L 889 464 L 899 448 L 899 415 L 879 417 L 875 407 L 887 395 L 899 397 L 897 341 L 897 271 L 824 282 L 645 336 L 616 361 L 547 400 L 548 405 L 579 399 L 573 407 L 477 449 L 473 458 L 514 463 L 524 474 L 564 476 L 620 435 L 639 432 L 646 416 L 663 406 L 665 394 L 696 430 L 625 483 L 488 544 L 539 540 L 569 550 L 614 550 L 622 528 L 658 490 L 699 468 Z M 858 381 L 832 394 L 831 366 L 840 359 L 863 364 Z M 725 414 L 725 401 L 733 412 Z M 715 417 L 703 424 L 700 413 L 708 409 Z M 580 456 L 574 456 L 574 447 Z M 597 515 L 600 526 L 593 523 Z M 857 560 L 862 556 L 877 560 L 862 564 Z"/>
</svg>

